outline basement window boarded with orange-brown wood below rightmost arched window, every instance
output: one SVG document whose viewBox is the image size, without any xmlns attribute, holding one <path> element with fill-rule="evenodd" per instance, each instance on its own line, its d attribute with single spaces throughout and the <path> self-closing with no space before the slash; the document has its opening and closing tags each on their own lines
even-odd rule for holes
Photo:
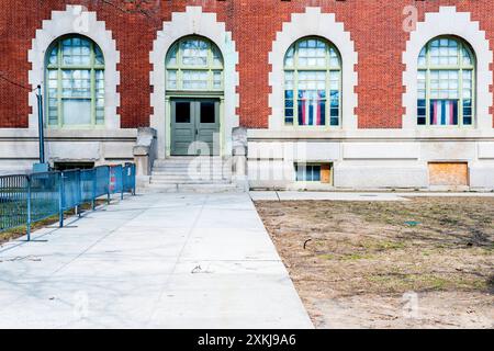
<svg viewBox="0 0 494 351">
<path fill-rule="evenodd" d="M 429 162 L 430 185 L 468 185 L 469 167 L 467 162 Z"/>
</svg>

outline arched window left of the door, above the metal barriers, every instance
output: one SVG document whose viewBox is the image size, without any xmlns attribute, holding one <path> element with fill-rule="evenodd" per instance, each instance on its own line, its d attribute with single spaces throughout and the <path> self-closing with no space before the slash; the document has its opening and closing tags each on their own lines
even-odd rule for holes
<svg viewBox="0 0 494 351">
<path fill-rule="evenodd" d="M 57 39 L 46 56 L 46 111 L 49 126 L 104 124 L 104 58 L 90 38 Z"/>
</svg>

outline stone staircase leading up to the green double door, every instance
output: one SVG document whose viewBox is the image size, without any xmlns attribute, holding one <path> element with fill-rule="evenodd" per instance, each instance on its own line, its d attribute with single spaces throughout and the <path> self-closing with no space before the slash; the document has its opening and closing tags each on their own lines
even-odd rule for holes
<svg viewBox="0 0 494 351">
<path fill-rule="evenodd" d="M 155 160 L 149 190 L 229 192 L 243 189 L 232 181 L 232 166 L 221 157 L 171 157 Z"/>
</svg>

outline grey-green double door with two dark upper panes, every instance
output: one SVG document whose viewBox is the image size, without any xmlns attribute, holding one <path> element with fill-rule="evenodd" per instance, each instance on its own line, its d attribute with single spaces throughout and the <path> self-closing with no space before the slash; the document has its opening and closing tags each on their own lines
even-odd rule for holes
<svg viewBox="0 0 494 351">
<path fill-rule="evenodd" d="M 171 156 L 220 155 L 220 100 L 171 100 Z"/>
</svg>

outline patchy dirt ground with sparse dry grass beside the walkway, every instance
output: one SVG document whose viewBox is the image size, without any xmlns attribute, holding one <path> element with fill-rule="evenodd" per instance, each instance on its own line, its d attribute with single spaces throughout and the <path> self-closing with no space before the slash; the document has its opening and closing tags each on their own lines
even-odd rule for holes
<svg viewBox="0 0 494 351">
<path fill-rule="evenodd" d="M 256 206 L 317 328 L 494 328 L 494 197 Z"/>
</svg>

